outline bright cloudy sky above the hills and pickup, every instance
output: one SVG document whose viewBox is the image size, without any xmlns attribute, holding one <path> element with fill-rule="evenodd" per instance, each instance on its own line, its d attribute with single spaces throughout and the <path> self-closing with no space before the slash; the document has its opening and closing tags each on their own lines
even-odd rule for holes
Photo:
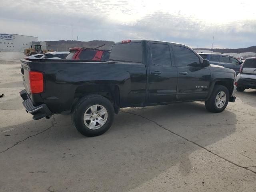
<svg viewBox="0 0 256 192">
<path fill-rule="evenodd" d="M 256 45 L 256 0 L 0 0 L 0 33 L 192 48 L 212 48 L 214 36 L 214 48 L 244 48 Z"/>
</svg>

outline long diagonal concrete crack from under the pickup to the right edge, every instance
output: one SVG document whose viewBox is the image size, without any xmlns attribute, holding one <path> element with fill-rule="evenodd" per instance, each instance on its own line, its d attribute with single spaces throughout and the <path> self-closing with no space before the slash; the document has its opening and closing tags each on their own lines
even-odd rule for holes
<svg viewBox="0 0 256 192">
<path fill-rule="evenodd" d="M 149 119 L 149 118 L 146 118 L 146 117 L 144 117 L 144 116 L 142 116 L 142 115 L 135 114 L 135 113 L 132 113 L 132 112 L 127 112 L 127 111 L 124 111 L 124 110 L 120 110 L 120 111 L 121 111 L 121 112 L 124 112 L 124 113 L 128 113 L 128 114 L 136 115 L 136 116 L 139 116 L 139 117 L 141 117 L 141 118 L 144 118 L 144 119 L 146 119 L 146 120 L 148 120 L 148 121 L 150 121 L 150 122 L 153 122 L 154 124 L 156 124 L 157 126 L 163 128 L 164 130 L 166 130 L 166 131 L 168 131 L 168 132 L 170 132 L 170 133 L 172 133 L 172 134 L 174 134 L 174 135 L 176 135 L 176 136 L 178 136 L 178 137 L 180 137 L 180 138 L 183 138 L 184 140 L 186 140 L 186 141 L 188 141 L 188 142 L 190 142 L 190 143 L 195 144 L 196 146 L 198 146 L 198 147 L 200 147 L 200 148 L 202 148 L 202 149 L 204 149 L 204 150 L 210 152 L 211 154 L 213 154 L 213 155 L 215 155 L 215 156 L 217 156 L 217 157 L 219 157 L 219 158 L 225 160 L 226 162 L 229 162 L 229 163 L 233 164 L 234 166 L 237 166 L 237 167 L 239 167 L 239 168 L 244 168 L 245 170 L 248 170 L 248 171 L 253 172 L 254 174 L 256 174 L 255 171 L 252 171 L 252 170 L 248 169 L 247 167 L 240 166 L 240 165 L 238 165 L 238 164 L 236 164 L 236 163 L 234 163 L 234 162 L 232 162 L 232 161 L 230 161 L 230 160 L 228 160 L 228 159 L 226 159 L 226 158 L 224 158 L 224 157 L 222 157 L 222 156 L 220 156 L 220 155 L 218 155 L 218 154 L 216 154 L 216 153 L 214 153 L 214 152 L 208 150 L 208 149 L 205 148 L 204 146 L 202 146 L 202 145 L 200 145 L 200 144 L 198 144 L 198 143 L 196 143 L 196 142 L 194 142 L 194 141 L 192 141 L 192 140 L 187 139 L 187 138 L 184 137 L 184 136 L 181 136 L 181 135 L 179 135 L 179 134 L 177 134 L 177 133 L 175 133 L 175 132 L 173 132 L 173 131 L 171 131 L 171 130 L 165 128 L 164 126 L 158 124 L 157 122 L 155 122 L 155 121 L 153 121 L 153 120 L 151 120 L 151 119 Z"/>
</svg>

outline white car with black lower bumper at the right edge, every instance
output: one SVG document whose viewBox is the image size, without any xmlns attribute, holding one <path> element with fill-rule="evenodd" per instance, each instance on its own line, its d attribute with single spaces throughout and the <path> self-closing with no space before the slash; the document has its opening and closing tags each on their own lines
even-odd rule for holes
<svg viewBox="0 0 256 192">
<path fill-rule="evenodd" d="M 246 58 L 236 76 L 237 91 L 256 89 L 256 57 Z"/>
</svg>

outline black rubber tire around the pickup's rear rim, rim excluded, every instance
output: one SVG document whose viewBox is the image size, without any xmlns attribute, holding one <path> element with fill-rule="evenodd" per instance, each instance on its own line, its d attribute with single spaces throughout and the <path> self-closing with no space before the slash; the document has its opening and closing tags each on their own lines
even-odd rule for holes
<svg viewBox="0 0 256 192">
<path fill-rule="evenodd" d="M 90 129 L 86 126 L 86 122 L 84 122 L 84 114 L 86 110 L 94 105 L 103 106 L 107 111 L 107 119 L 106 122 L 97 129 Z M 72 113 L 72 123 L 76 127 L 76 129 L 83 135 L 88 137 L 98 136 L 105 133 L 114 120 L 114 108 L 111 102 L 100 95 L 89 95 L 81 98 L 76 106 L 74 107 Z M 89 120 L 92 121 L 92 120 Z M 87 121 L 88 122 L 88 121 Z"/>
</svg>

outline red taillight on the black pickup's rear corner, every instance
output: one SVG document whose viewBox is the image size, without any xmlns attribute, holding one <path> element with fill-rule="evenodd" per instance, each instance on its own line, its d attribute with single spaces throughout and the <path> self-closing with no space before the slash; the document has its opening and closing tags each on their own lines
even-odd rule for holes
<svg viewBox="0 0 256 192">
<path fill-rule="evenodd" d="M 29 83 L 31 93 L 41 93 L 44 91 L 44 78 L 40 72 L 29 72 Z"/>
</svg>

